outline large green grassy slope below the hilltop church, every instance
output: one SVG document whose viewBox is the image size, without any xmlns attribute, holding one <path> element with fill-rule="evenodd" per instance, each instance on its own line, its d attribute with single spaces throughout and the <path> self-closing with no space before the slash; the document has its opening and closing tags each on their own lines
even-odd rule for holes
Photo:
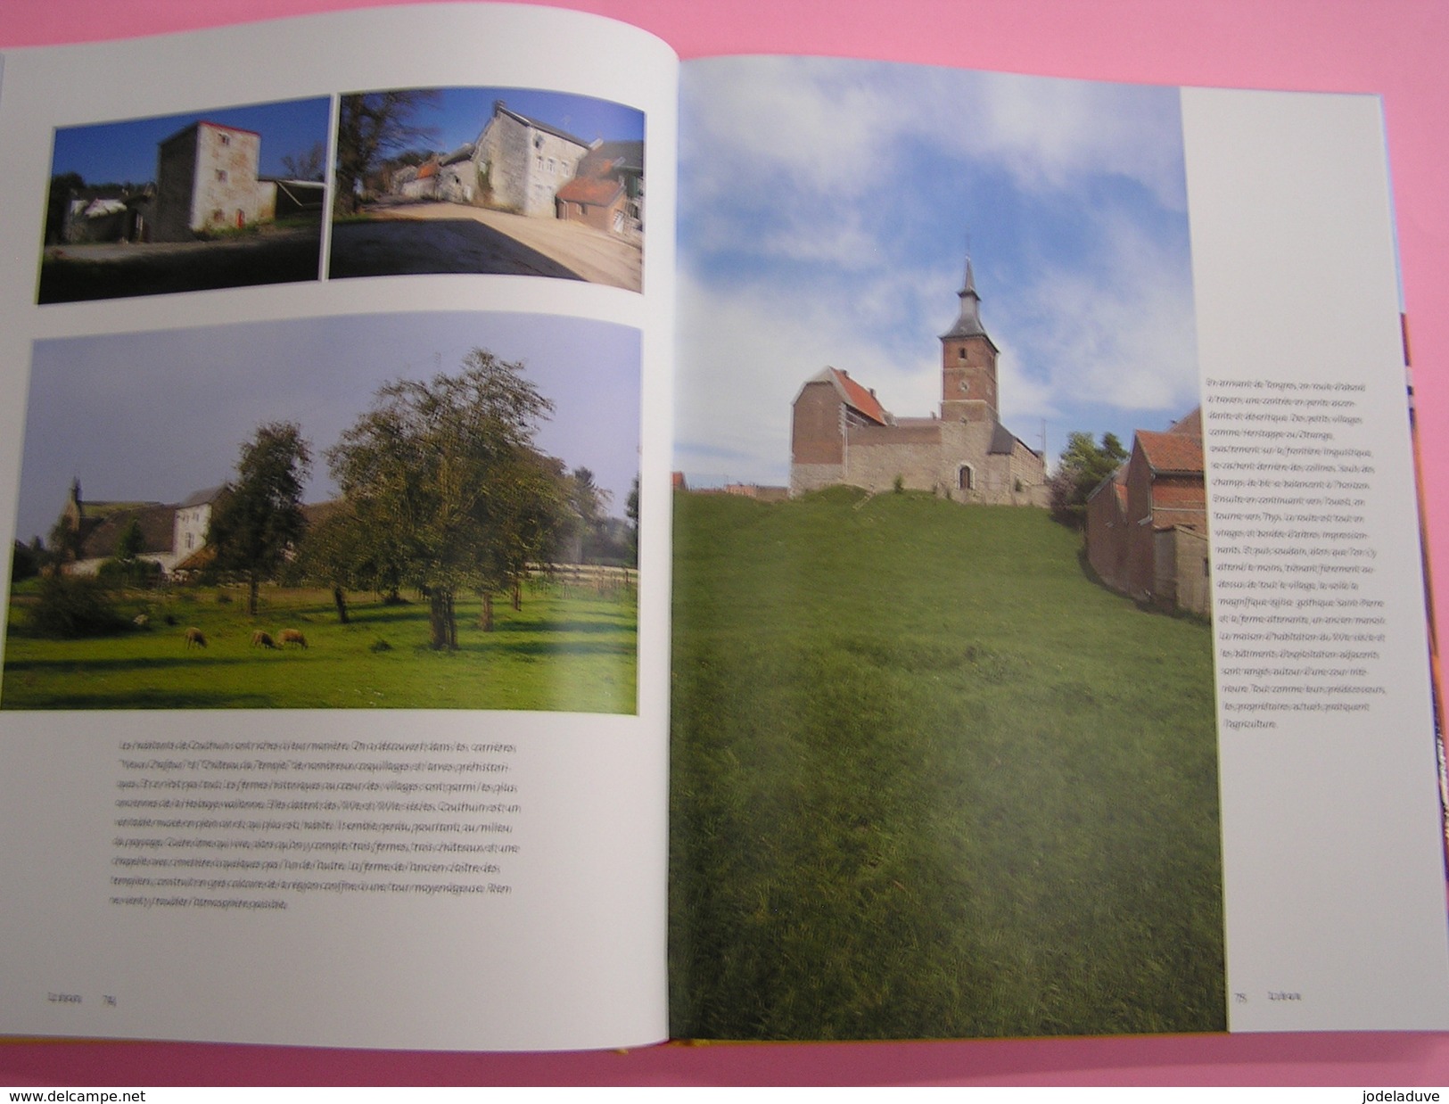
<svg viewBox="0 0 1449 1104">
<path fill-rule="evenodd" d="M 675 495 L 671 1033 L 1224 1030 L 1208 626 L 861 498 Z"/>
</svg>

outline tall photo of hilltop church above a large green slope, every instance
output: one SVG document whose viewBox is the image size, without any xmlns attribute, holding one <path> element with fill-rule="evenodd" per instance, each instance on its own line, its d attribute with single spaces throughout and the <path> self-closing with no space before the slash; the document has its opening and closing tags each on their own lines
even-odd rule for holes
<svg viewBox="0 0 1449 1104">
<path fill-rule="evenodd" d="M 671 1034 L 1226 1030 L 1177 91 L 730 58 L 680 132 Z"/>
</svg>

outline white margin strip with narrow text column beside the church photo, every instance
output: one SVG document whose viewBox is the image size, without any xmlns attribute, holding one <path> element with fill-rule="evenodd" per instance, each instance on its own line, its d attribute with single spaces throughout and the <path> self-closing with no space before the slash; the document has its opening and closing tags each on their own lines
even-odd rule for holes
<svg viewBox="0 0 1449 1104">
<path fill-rule="evenodd" d="M 1442 1027 L 1445 884 L 1381 106 L 1184 91 L 1233 1030 Z"/>
</svg>

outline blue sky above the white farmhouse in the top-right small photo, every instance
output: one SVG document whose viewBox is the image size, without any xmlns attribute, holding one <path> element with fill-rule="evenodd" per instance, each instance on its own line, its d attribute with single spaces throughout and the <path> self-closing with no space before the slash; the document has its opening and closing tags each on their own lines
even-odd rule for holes
<svg viewBox="0 0 1449 1104">
<path fill-rule="evenodd" d="M 588 96 L 540 91 L 538 88 L 436 88 L 435 100 L 423 103 L 410 119 L 413 126 L 432 130 L 420 145 L 452 152 L 472 142 L 493 116 L 493 101 L 503 100 L 510 110 L 558 127 L 585 143 L 643 141 L 643 112 Z M 393 151 L 401 152 L 401 151 Z"/>
</svg>

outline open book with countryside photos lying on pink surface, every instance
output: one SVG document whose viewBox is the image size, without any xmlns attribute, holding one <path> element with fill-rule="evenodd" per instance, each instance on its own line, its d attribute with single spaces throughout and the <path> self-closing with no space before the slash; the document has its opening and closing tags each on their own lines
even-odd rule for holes
<svg viewBox="0 0 1449 1104">
<path fill-rule="evenodd" d="M 3 62 L 0 1032 L 1449 1027 L 1375 99 Z"/>
</svg>

